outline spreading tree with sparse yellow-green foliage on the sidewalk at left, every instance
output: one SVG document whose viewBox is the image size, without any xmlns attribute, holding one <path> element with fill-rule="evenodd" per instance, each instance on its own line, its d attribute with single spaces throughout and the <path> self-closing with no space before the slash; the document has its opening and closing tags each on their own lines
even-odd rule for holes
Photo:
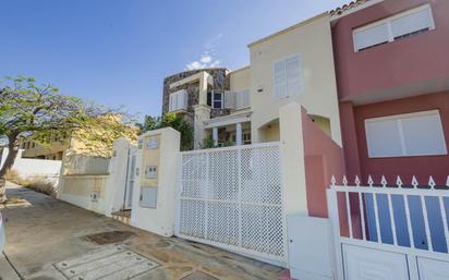
<svg viewBox="0 0 449 280">
<path fill-rule="evenodd" d="M 65 138 L 82 131 L 86 139 L 111 142 L 111 135 L 117 136 L 129 129 L 122 122 L 111 121 L 119 115 L 122 120 L 126 114 L 61 95 L 51 85 L 36 85 L 34 78 L 19 75 L 5 77 L 3 83 L 0 88 L 0 136 L 8 143 L 10 153 L 0 169 L 0 203 L 7 199 L 4 175 L 14 165 L 21 138 L 48 145 L 54 138 Z M 104 130 L 102 133 L 93 133 L 98 127 Z"/>
</svg>

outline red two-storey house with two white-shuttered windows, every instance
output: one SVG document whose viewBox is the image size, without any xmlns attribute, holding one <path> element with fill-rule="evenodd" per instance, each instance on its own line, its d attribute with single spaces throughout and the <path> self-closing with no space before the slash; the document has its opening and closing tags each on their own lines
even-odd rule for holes
<svg viewBox="0 0 449 280">
<path fill-rule="evenodd" d="M 356 1 L 331 12 L 347 173 L 446 183 L 449 2 Z"/>
</svg>

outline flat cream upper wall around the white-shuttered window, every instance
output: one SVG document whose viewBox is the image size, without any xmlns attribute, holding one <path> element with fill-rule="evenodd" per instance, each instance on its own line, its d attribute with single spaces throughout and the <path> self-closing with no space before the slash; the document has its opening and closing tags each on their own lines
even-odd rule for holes
<svg viewBox="0 0 449 280">
<path fill-rule="evenodd" d="M 279 119 L 282 106 L 296 101 L 308 113 L 328 118 L 332 139 L 341 145 L 329 15 L 318 15 L 248 47 L 253 143 L 263 141 L 259 129 Z M 301 54 L 302 94 L 277 100 L 272 93 L 274 62 L 294 53 Z"/>
</svg>

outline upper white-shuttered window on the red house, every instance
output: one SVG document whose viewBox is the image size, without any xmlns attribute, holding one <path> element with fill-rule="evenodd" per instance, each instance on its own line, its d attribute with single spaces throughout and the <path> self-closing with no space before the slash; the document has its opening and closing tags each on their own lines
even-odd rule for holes
<svg viewBox="0 0 449 280">
<path fill-rule="evenodd" d="M 430 29 L 435 29 L 430 5 L 424 4 L 355 29 L 354 50 L 361 51 Z"/>
</svg>

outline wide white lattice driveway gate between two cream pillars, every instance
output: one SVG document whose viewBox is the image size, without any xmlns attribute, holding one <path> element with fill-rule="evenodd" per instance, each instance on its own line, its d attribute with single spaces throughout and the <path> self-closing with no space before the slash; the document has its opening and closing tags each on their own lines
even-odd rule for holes
<svg viewBox="0 0 449 280">
<path fill-rule="evenodd" d="M 279 144 L 181 154 L 175 233 L 284 265 Z"/>
</svg>

